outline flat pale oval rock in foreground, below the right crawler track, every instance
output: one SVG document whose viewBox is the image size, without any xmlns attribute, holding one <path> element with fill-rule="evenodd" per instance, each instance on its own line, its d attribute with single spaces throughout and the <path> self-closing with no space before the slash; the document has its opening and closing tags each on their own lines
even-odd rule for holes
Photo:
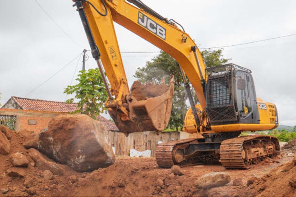
<svg viewBox="0 0 296 197">
<path fill-rule="evenodd" d="M 195 181 L 195 187 L 199 189 L 219 187 L 226 185 L 230 180 L 230 175 L 227 172 L 213 172 L 199 177 Z"/>
</svg>

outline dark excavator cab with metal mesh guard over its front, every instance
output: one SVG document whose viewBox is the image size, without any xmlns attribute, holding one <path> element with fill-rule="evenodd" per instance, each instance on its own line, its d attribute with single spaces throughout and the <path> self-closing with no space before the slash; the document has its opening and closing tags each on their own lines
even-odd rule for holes
<svg viewBox="0 0 296 197">
<path fill-rule="evenodd" d="M 236 64 L 206 69 L 206 111 L 211 125 L 260 122 L 251 72 Z"/>
</svg>

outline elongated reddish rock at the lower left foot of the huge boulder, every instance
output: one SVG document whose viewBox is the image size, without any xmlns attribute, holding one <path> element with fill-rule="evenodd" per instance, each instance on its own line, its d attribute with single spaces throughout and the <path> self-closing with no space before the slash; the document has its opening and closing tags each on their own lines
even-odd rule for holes
<svg viewBox="0 0 296 197">
<path fill-rule="evenodd" d="M 64 174 L 63 169 L 59 164 L 47 161 L 36 149 L 30 148 L 29 155 L 35 161 L 36 167 L 40 170 L 50 170 L 54 175 Z"/>
</svg>

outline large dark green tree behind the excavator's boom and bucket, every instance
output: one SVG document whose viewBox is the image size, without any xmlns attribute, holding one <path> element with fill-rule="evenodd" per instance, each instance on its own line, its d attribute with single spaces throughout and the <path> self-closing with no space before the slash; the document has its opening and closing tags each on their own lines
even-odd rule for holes
<svg viewBox="0 0 296 197">
<path fill-rule="evenodd" d="M 219 66 L 228 62 L 229 59 L 222 58 L 222 50 L 204 50 L 201 51 L 204 62 L 207 67 Z M 175 92 L 173 96 L 173 107 L 171 113 L 171 119 L 168 124 L 169 128 L 182 127 L 183 120 L 185 118 L 188 106 L 186 105 L 186 93 L 183 86 L 183 77 L 180 72 L 179 63 L 172 58 L 169 54 L 162 51 L 158 56 L 152 59 L 152 61 L 146 62 L 146 65 L 142 68 L 138 68 L 134 74 L 134 77 L 138 78 L 140 82 L 154 82 L 159 84 L 162 78 L 166 78 L 166 82 L 171 75 L 175 76 Z M 193 91 L 193 95 L 195 92 Z M 194 96 L 195 100 L 196 95 Z"/>
</svg>

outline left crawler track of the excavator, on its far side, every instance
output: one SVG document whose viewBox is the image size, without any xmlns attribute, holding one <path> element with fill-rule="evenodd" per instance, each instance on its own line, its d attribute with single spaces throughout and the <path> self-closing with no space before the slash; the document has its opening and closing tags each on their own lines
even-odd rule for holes
<svg viewBox="0 0 296 197">
<path fill-rule="evenodd" d="M 156 147 L 155 157 L 159 167 L 169 168 L 173 165 L 187 166 L 210 163 L 219 160 L 219 154 L 199 155 L 181 162 L 176 161 L 178 158 L 178 149 L 185 149 L 190 143 L 199 143 L 199 139 L 182 139 L 167 143 L 161 143 Z"/>
</svg>

